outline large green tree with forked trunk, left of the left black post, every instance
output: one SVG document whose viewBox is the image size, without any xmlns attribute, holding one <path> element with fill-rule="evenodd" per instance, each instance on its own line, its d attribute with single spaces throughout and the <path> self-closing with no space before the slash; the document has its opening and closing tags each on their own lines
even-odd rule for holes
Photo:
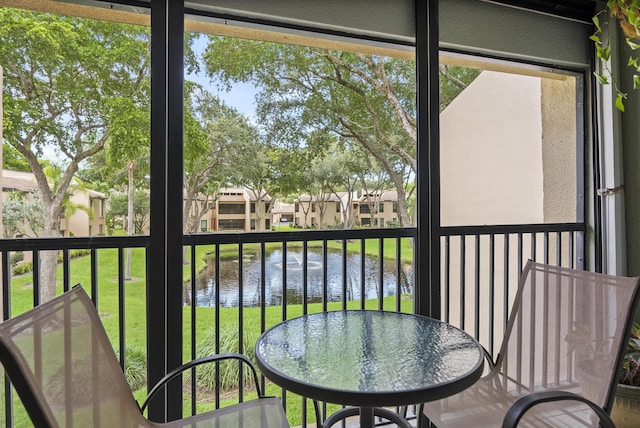
<svg viewBox="0 0 640 428">
<path fill-rule="evenodd" d="M 64 198 L 83 160 L 104 149 L 111 125 L 149 75 L 145 27 L 0 8 L 4 138 L 29 163 L 42 197 L 44 236 L 60 236 Z M 64 159 L 49 186 L 39 157 Z M 56 251 L 41 253 L 41 299 L 54 296 Z"/>
</svg>

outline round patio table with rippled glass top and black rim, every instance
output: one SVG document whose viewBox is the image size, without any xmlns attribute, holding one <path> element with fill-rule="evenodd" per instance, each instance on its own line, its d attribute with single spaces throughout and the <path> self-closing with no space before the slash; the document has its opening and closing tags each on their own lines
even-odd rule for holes
<svg viewBox="0 0 640 428">
<path fill-rule="evenodd" d="M 385 311 L 345 310 L 304 315 L 265 331 L 256 362 L 275 384 L 316 401 L 347 407 L 325 424 L 360 415 L 408 426 L 384 407 L 437 400 L 472 385 L 484 367 L 479 343 L 432 318 Z"/>
</svg>

